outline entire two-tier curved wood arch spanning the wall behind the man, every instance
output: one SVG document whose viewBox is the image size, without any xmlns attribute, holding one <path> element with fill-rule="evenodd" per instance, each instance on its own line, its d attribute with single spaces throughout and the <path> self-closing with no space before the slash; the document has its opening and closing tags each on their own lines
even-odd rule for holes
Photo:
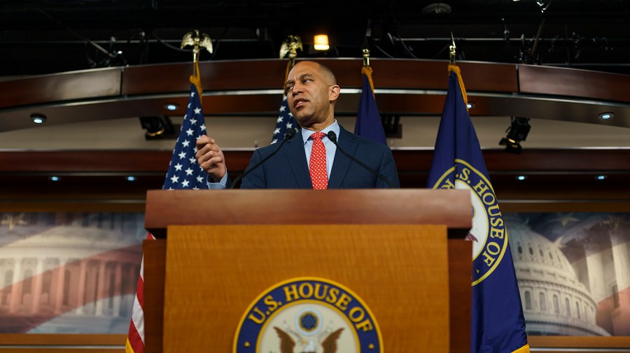
<svg viewBox="0 0 630 353">
<path fill-rule="evenodd" d="M 342 86 L 339 115 L 356 114 L 362 84 L 360 59 L 324 59 Z M 374 59 L 381 112 L 439 115 L 448 83 L 447 62 Z M 471 115 L 524 116 L 630 127 L 630 76 L 577 69 L 460 62 Z M 202 62 L 206 115 L 276 115 L 286 61 L 255 59 Z M 31 113 L 46 124 L 142 115 L 183 115 L 190 63 L 94 69 L 0 82 L 0 131 L 32 127 Z M 346 89 L 346 93 L 344 92 Z M 603 122 L 599 113 L 615 118 Z"/>
</svg>

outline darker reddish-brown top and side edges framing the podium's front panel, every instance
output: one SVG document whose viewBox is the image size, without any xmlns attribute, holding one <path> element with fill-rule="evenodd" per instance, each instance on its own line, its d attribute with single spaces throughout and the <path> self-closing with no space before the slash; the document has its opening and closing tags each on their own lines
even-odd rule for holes
<svg viewBox="0 0 630 353">
<path fill-rule="evenodd" d="M 307 212 L 305 206 L 318 212 Z M 470 352 L 472 249 L 462 239 L 471 226 L 470 192 L 465 190 L 151 190 L 145 224 L 162 237 L 167 226 L 190 224 L 444 224 L 449 232 L 451 352 Z M 163 332 L 165 248 L 165 240 L 145 247 L 145 252 L 161 254 L 147 257 L 145 253 L 144 307 L 157 310 L 152 316 L 155 321 L 145 322 L 147 340 L 161 338 Z M 151 266 L 148 259 L 160 264 Z M 146 343 L 146 353 L 162 353 L 162 348 L 162 340 Z"/>
</svg>

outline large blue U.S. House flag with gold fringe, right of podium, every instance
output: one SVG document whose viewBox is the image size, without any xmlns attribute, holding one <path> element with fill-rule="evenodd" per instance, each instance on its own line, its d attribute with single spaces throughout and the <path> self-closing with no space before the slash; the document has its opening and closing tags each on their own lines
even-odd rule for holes
<svg viewBox="0 0 630 353">
<path fill-rule="evenodd" d="M 529 352 L 507 229 L 468 116 L 457 66 L 428 177 L 432 189 L 468 189 L 472 199 L 472 353 Z"/>
</svg>

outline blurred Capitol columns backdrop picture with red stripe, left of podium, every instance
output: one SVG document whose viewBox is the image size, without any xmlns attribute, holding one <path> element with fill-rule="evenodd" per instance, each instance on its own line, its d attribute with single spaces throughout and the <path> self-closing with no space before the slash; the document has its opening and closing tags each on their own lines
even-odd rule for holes
<svg viewBox="0 0 630 353">
<path fill-rule="evenodd" d="M 22 214 L 3 229 L 0 331 L 125 333 L 146 236 L 141 213 Z"/>
</svg>

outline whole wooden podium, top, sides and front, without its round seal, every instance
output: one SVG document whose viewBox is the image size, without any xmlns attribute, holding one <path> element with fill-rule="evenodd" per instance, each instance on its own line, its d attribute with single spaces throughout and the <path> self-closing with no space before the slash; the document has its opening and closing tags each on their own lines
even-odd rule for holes
<svg viewBox="0 0 630 353">
<path fill-rule="evenodd" d="M 146 352 L 231 353 L 254 299 L 300 277 L 360 296 L 381 352 L 470 352 L 470 207 L 460 190 L 149 191 Z"/>
</svg>

